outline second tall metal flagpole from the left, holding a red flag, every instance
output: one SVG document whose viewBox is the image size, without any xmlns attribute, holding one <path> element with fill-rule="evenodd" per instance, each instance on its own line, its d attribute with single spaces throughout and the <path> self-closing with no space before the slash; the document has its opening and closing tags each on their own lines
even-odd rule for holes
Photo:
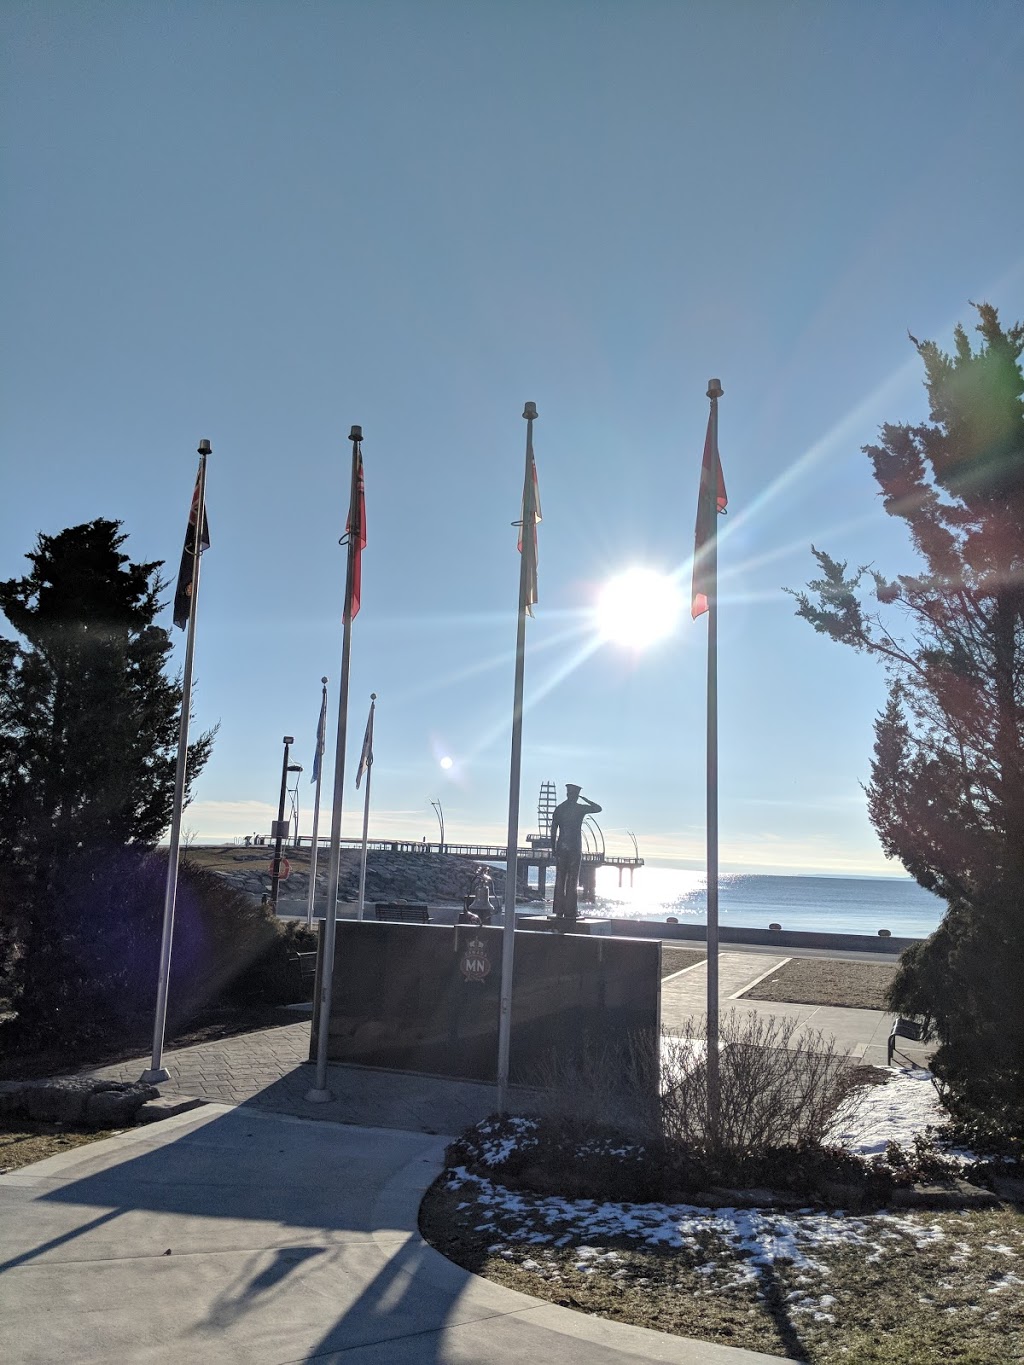
<svg viewBox="0 0 1024 1365">
<path fill-rule="evenodd" d="M 324 919 L 324 960 L 319 971 L 317 1007 L 317 1082 L 306 1099 L 324 1104 L 335 1096 L 328 1089 L 328 1040 L 330 1036 L 330 995 L 335 984 L 335 938 L 337 934 L 337 883 L 341 879 L 341 805 L 345 796 L 345 740 L 348 737 L 348 676 L 352 659 L 352 587 L 355 583 L 362 509 L 359 506 L 359 464 L 363 429 L 348 433 L 352 442 L 352 479 L 348 495 L 348 560 L 345 568 L 345 610 L 341 635 L 341 685 L 337 696 L 337 744 L 335 747 L 335 805 L 330 812 L 330 863 L 328 864 L 328 905 Z"/>
</svg>

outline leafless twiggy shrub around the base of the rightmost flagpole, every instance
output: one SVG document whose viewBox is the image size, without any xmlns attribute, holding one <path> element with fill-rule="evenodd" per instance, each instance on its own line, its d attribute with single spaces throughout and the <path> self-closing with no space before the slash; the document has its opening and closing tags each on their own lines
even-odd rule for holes
<svg viewBox="0 0 1024 1365">
<path fill-rule="evenodd" d="M 720 1122 L 707 1115 L 707 1018 L 665 1035 L 661 1121 L 687 1148 L 755 1156 L 781 1147 L 819 1147 L 856 1087 L 849 1057 L 795 1020 L 730 1010 L 718 1024 Z"/>
</svg>

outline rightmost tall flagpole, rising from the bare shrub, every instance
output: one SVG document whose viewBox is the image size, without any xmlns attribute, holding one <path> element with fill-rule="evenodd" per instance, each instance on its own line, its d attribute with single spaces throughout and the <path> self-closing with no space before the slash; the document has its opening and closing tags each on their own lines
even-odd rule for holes
<svg viewBox="0 0 1024 1365">
<path fill-rule="evenodd" d="M 707 381 L 711 400 L 710 427 L 715 468 L 702 489 L 709 501 L 711 534 L 706 549 L 707 581 L 707 1126 L 717 1144 L 721 1118 L 718 1067 L 718 399 L 721 381 Z"/>
</svg>

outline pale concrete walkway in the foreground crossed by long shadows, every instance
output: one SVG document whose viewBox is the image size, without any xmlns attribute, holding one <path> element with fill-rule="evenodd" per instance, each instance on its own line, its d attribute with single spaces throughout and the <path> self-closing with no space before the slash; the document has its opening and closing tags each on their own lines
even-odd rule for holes
<svg viewBox="0 0 1024 1365">
<path fill-rule="evenodd" d="M 453 1265 L 416 1231 L 442 1151 L 418 1133 L 210 1104 L 0 1177 L 3 1360 L 777 1361 L 588 1317 Z"/>
</svg>

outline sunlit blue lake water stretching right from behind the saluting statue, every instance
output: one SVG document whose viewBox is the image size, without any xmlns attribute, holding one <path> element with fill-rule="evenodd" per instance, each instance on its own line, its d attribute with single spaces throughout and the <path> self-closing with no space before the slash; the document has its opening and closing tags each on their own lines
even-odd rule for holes
<svg viewBox="0 0 1024 1365">
<path fill-rule="evenodd" d="M 598 870 L 597 902 L 580 906 L 583 917 L 665 920 L 703 924 L 707 917 L 703 872 L 642 867 L 624 872 L 618 887 L 613 867 Z M 718 921 L 741 928 L 810 930 L 825 934 L 877 934 L 926 938 L 938 928 L 945 904 L 916 882 L 870 876 L 722 875 L 718 880 Z"/>
</svg>

